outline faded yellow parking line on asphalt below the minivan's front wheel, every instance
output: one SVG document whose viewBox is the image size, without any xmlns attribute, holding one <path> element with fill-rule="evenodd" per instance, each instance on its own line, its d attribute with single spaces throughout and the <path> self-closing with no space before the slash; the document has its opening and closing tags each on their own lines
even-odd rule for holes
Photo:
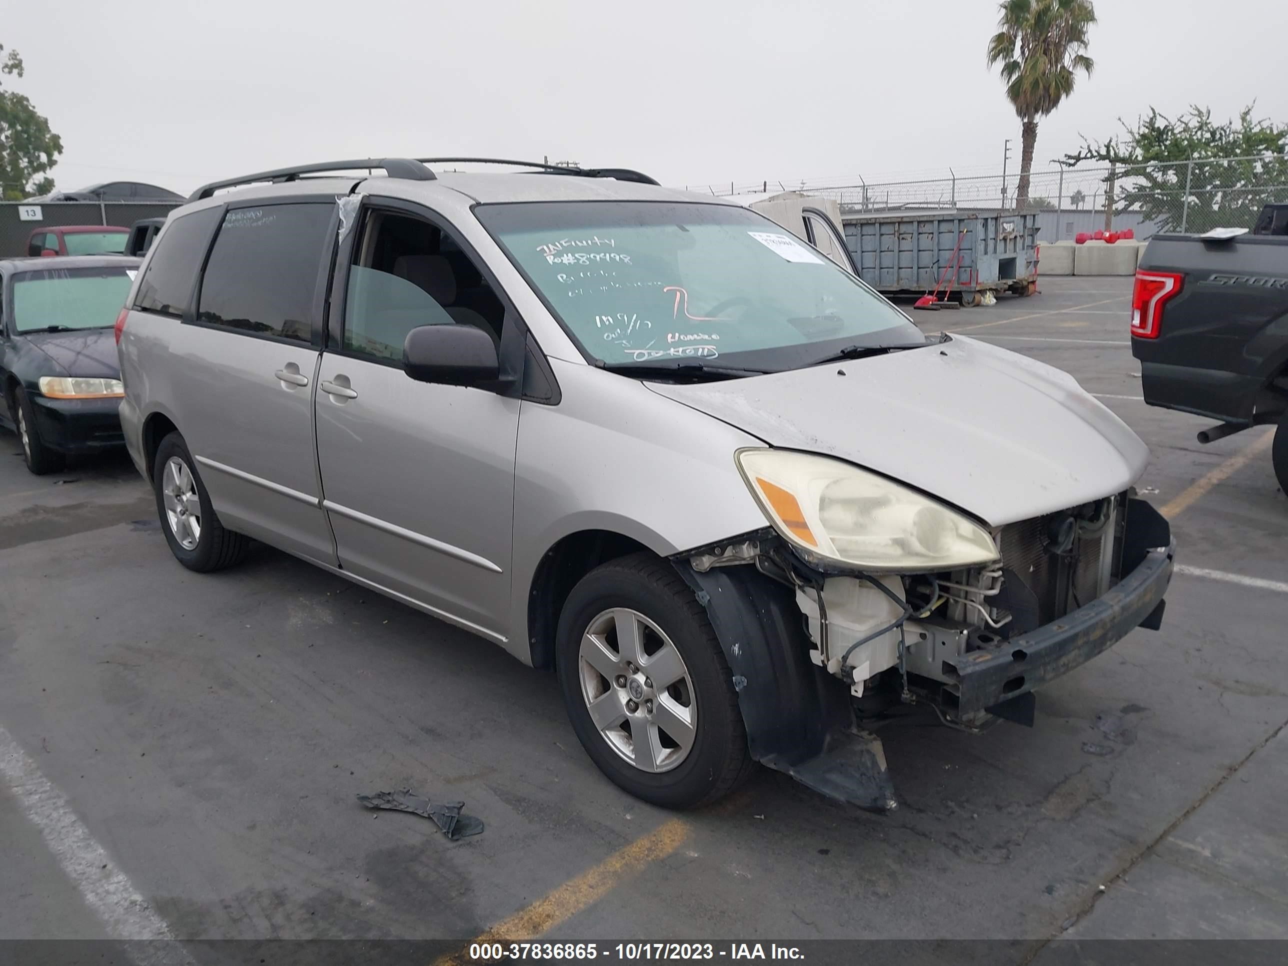
<svg viewBox="0 0 1288 966">
<path fill-rule="evenodd" d="M 643 838 L 636 838 L 598 866 L 568 880 L 546 898 L 497 922 L 470 943 L 523 942 L 541 935 L 589 905 L 594 905 L 625 876 L 635 875 L 649 863 L 665 859 L 680 848 L 688 833 L 689 824 L 683 819 L 672 818 L 665 822 Z M 464 949 L 444 956 L 434 966 L 459 966 L 466 961 L 462 953 Z"/>
</svg>

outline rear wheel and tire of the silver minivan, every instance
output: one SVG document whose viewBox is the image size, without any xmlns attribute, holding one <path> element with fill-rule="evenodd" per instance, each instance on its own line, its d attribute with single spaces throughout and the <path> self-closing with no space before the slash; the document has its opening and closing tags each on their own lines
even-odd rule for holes
<svg viewBox="0 0 1288 966">
<path fill-rule="evenodd" d="M 161 532 L 175 559 L 189 571 L 222 571 L 246 556 L 250 538 L 224 529 L 197 473 L 197 462 L 178 433 L 170 433 L 157 447 L 152 488 Z"/>
</svg>

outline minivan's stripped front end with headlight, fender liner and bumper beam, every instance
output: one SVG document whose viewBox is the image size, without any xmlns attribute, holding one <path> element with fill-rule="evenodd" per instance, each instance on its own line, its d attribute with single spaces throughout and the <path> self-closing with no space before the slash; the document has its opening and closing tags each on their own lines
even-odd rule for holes
<svg viewBox="0 0 1288 966">
<path fill-rule="evenodd" d="M 1167 520 L 1128 491 L 989 527 L 876 474 L 739 453 L 770 527 L 676 555 L 738 692 L 752 757 L 829 797 L 896 808 L 866 725 L 1033 724 L 1033 690 L 1158 630 Z"/>
</svg>

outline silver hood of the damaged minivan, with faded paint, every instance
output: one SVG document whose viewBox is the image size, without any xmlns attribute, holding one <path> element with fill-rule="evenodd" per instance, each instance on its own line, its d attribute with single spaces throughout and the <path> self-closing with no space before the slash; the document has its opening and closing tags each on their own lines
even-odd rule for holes
<svg viewBox="0 0 1288 966">
<path fill-rule="evenodd" d="M 841 374 L 845 375 L 841 375 Z M 1149 450 L 1073 376 L 974 339 L 654 393 L 1002 526 L 1118 493 Z"/>
</svg>

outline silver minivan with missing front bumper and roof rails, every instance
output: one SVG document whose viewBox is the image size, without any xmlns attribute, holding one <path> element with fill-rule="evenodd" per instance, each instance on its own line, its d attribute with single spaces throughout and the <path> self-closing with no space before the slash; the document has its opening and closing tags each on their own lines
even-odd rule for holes
<svg viewBox="0 0 1288 966">
<path fill-rule="evenodd" d="M 1070 376 L 927 337 L 820 213 L 505 164 L 169 216 L 116 339 L 182 564 L 259 540 L 554 668 L 595 764 L 672 808 L 753 762 L 894 808 L 866 721 L 1032 724 L 1159 627 L 1146 448 Z"/>
</svg>

